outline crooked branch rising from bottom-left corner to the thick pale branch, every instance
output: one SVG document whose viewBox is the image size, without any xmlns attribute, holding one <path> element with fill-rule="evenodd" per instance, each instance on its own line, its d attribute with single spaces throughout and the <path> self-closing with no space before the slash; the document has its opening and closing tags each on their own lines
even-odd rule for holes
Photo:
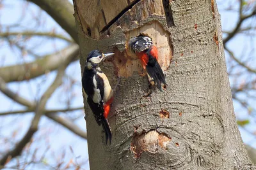
<svg viewBox="0 0 256 170">
<path fill-rule="evenodd" d="M 67 67 L 67 65 L 65 67 Z M 38 104 L 36 104 L 35 117 L 33 118 L 31 125 L 28 131 L 26 132 L 25 136 L 19 141 L 19 143 L 15 146 L 15 148 L 13 148 L 13 150 L 10 150 L 6 154 L 4 154 L 3 158 L 0 160 L 0 166 L 4 166 L 4 164 L 6 164 L 6 160 L 10 160 L 13 159 L 14 157 L 19 156 L 23 148 L 26 146 L 27 143 L 29 143 L 35 132 L 38 130 L 38 123 L 40 118 L 44 114 L 45 104 L 51 97 L 52 93 L 61 85 L 62 77 L 65 74 L 65 67 L 61 66 L 52 85 L 43 94 Z"/>
</svg>

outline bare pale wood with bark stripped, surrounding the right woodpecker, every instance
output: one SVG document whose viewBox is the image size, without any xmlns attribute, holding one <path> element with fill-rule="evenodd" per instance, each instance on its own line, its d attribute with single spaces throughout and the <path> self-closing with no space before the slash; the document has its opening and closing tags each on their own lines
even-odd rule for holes
<svg viewBox="0 0 256 170">
<path fill-rule="evenodd" d="M 127 42 L 130 38 L 138 36 L 141 33 L 145 33 L 153 39 L 154 45 L 158 48 L 159 64 L 163 70 L 166 71 L 170 66 L 170 60 L 172 59 L 172 50 L 170 50 L 169 45 L 169 32 L 164 31 L 159 22 L 154 21 L 150 24 L 141 26 L 139 29 L 126 32 L 125 36 Z M 118 52 L 118 50 L 116 50 L 113 63 L 116 69 L 118 69 L 119 76 L 127 78 L 132 76 L 133 73 L 143 73 L 140 60 L 138 60 L 138 57 L 128 49 L 125 52 Z"/>
</svg>

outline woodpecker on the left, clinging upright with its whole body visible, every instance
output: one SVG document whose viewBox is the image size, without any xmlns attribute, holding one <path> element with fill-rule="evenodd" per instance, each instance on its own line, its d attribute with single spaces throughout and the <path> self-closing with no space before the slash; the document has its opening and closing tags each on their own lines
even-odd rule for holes
<svg viewBox="0 0 256 170">
<path fill-rule="evenodd" d="M 86 93 L 87 103 L 89 104 L 97 124 L 102 125 L 106 135 L 106 145 L 109 139 L 111 144 L 111 129 L 108 123 L 110 104 L 113 102 L 113 90 L 109 85 L 107 76 L 100 70 L 99 64 L 114 53 L 102 53 L 93 50 L 89 53 L 84 73 L 82 85 Z"/>
</svg>

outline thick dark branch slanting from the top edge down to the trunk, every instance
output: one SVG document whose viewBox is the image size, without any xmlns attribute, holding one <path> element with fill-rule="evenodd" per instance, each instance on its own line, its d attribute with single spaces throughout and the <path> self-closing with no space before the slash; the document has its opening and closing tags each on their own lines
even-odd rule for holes
<svg viewBox="0 0 256 170">
<path fill-rule="evenodd" d="M 27 0 L 46 11 L 70 36 L 78 42 L 74 7 L 68 0 Z"/>
</svg>

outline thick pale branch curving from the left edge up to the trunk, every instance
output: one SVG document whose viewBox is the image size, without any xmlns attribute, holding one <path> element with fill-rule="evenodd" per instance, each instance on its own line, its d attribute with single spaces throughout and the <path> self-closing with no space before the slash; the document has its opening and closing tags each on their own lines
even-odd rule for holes
<svg viewBox="0 0 256 170">
<path fill-rule="evenodd" d="M 78 59 L 79 46 L 76 44 L 64 48 L 60 52 L 52 55 L 46 55 L 42 59 L 37 59 L 34 62 L 20 64 L 15 66 L 7 66 L 0 68 L 0 77 L 5 82 L 23 81 L 41 76 L 48 71 L 58 69 L 67 59 L 70 62 Z"/>
</svg>

